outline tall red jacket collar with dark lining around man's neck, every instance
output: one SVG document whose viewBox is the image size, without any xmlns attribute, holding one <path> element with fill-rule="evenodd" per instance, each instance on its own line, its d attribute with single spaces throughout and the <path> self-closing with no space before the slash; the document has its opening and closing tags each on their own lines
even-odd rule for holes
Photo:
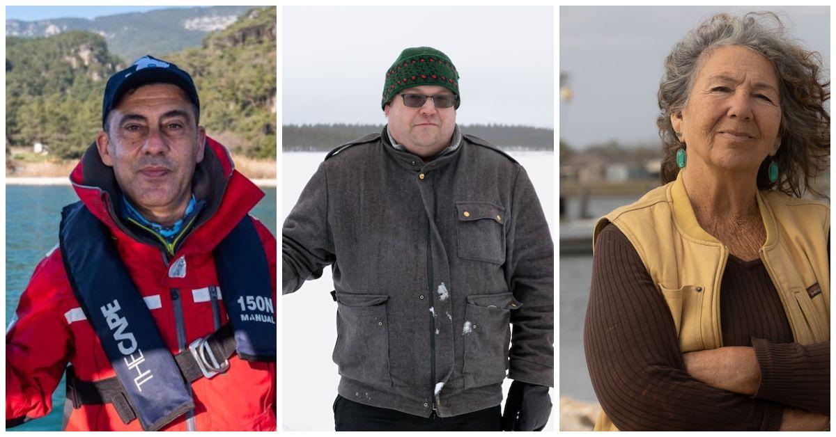
<svg viewBox="0 0 836 437">
<path fill-rule="evenodd" d="M 152 236 L 126 226 L 120 217 L 122 191 L 113 169 L 99 157 L 95 143 L 84 152 L 69 180 L 84 206 L 116 236 L 161 246 Z M 235 170 L 227 148 L 208 136 L 203 160 L 195 168 L 191 191 L 198 200 L 206 201 L 206 206 L 176 248 L 176 256 L 211 251 L 264 196 L 263 191 Z"/>
</svg>

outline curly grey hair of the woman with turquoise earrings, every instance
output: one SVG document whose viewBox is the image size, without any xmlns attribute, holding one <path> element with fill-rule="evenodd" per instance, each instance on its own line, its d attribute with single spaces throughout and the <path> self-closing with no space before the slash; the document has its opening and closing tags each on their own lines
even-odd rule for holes
<svg viewBox="0 0 836 437">
<path fill-rule="evenodd" d="M 773 23 L 767 23 L 772 21 Z M 772 25 L 770 25 L 772 24 Z M 769 158 L 757 173 L 760 190 L 775 188 L 790 196 L 803 196 L 815 176 L 829 165 L 830 115 L 824 102 L 830 98 L 830 81 L 819 78 L 822 59 L 805 50 L 785 32 L 775 13 L 747 13 L 742 18 L 718 13 L 691 30 L 676 43 L 665 58 L 665 76 L 659 85 L 656 119 L 664 148 L 660 178 L 662 183 L 676 178 L 676 150 L 685 145 L 670 123 L 671 114 L 681 114 L 688 103 L 691 87 L 703 61 L 716 48 L 738 45 L 751 48 L 775 67 L 781 94 L 781 148 L 772 158 L 779 178 L 767 176 Z M 817 193 L 818 194 L 818 193 Z"/>
</svg>

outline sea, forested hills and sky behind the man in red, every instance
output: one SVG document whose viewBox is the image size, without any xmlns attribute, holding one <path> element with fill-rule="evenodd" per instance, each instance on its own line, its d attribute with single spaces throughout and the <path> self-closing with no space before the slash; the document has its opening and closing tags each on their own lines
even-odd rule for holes
<svg viewBox="0 0 836 437">
<path fill-rule="evenodd" d="M 150 54 L 195 80 L 206 134 L 267 194 L 252 211 L 276 232 L 276 8 L 6 7 L 6 325 L 34 267 L 58 243 L 69 172 L 101 129 L 104 84 Z M 48 416 L 14 430 L 59 430 Z"/>
</svg>

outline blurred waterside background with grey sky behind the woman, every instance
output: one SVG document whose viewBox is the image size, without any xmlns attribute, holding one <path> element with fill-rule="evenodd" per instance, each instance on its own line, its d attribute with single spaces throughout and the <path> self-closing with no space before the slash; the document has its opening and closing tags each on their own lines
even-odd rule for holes
<svg viewBox="0 0 836 437">
<path fill-rule="evenodd" d="M 592 228 L 659 185 L 656 93 L 665 57 L 715 13 L 750 11 L 777 13 L 790 35 L 821 54 L 829 77 L 828 7 L 560 8 L 561 430 L 592 429 L 597 416 L 583 344 Z M 826 195 L 829 184 L 829 172 L 816 181 Z"/>
</svg>

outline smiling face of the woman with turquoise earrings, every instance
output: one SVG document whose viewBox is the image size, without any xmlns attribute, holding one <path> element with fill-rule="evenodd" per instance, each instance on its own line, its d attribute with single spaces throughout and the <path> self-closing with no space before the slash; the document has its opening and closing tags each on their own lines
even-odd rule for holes
<svg viewBox="0 0 836 437">
<path fill-rule="evenodd" d="M 703 60 L 674 130 L 686 144 L 687 166 L 752 172 L 775 155 L 781 139 L 781 101 L 767 58 L 741 46 L 718 48 Z"/>
</svg>

